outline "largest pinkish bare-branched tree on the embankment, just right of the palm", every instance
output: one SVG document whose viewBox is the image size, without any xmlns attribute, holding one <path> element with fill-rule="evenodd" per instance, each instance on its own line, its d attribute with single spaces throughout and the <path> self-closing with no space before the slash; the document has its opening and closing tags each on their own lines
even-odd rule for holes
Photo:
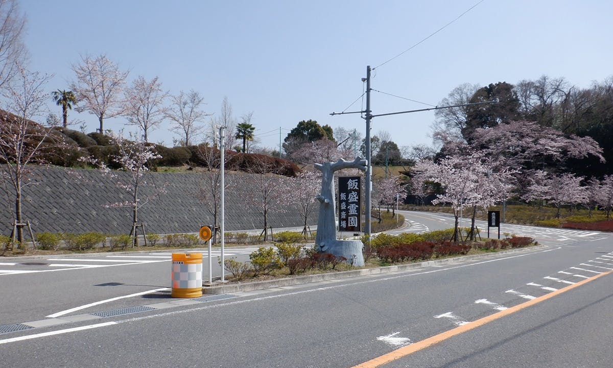
<svg viewBox="0 0 613 368">
<path fill-rule="evenodd" d="M 70 90 L 77 96 L 78 112 L 88 111 L 100 122 L 99 132 L 104 132 L 104 118 L 112 118 L 124 112 L 123 85 L 129 71 L 119 66 L 106 55 L 81 56 L 82 64 L 73 65 L 77 80 L 70 83 Z"/>
</svg>

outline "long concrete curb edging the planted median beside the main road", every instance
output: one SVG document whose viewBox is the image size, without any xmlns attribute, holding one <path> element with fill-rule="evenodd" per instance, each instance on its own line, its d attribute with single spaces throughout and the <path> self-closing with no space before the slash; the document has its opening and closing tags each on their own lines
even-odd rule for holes
<svg viewBox="0 0 613 368">
<path fill-rule="evenodd" d="M 203 286 L 203 294 L 229 294 L 240 293 L 241 291 L 262 290 L 269 288 L 280 288 L 282 286 L 300 285 L 311 282 L 322 282 L 327 280 L 339 280 L 343 278 L 358 277 L 365 275 L 389 274 L 390 272 L 402 272 L 407 270 L 419 269 L 422 267 L 439 266 L 441 264 L 456 263 L 460 261 L 473 261 L 478 259 L 495 258 L 500 255 L 522 253 L 535 249 L 546 248 L 546 245 L 536 245 L 535 247 L 516 248 L 498 251 L 496 253 L 484 253 L 482 255 L 460 256 L 454 258 L 435 259 L 432 261 L 398 264 L 394 266 L 373 267 L 370 269 L 349 270 L 341 272 L 329 272 L 327 274 L 305 275 L 296 277 L 275 278 L 273 280 L 230 283 L 216 286 Z"/>
</svg>

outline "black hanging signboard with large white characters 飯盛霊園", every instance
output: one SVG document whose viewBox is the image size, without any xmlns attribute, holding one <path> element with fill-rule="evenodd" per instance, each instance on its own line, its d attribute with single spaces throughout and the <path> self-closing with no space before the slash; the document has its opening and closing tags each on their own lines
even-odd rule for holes
<svg viewBox="0 0 613 368">
<path fill-rule="evenodd" d="M 338 230 L 360 231 L 360 177 L 338 178 Z"/>
</svg>

